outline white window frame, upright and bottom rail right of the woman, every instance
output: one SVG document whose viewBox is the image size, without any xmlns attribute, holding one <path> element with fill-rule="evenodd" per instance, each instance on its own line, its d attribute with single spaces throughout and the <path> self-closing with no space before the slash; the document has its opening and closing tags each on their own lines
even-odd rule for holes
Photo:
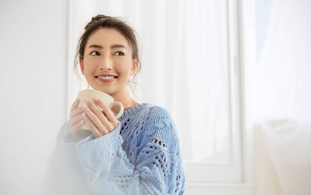
<svg viewBox="0 0 311 195">
<path fill-rule="evenodd" d="M 195 162 L 184 161 L 184 169 L 188 184 L 243 181 L 243 148 L 242 148 L 242 71 L 240 63 L 240 21 L 239 1 L 226 1 L 227 44 L 228 44 L 228 81 L 229 81 L 229 142 L 230 161 Z"/>
</svg>

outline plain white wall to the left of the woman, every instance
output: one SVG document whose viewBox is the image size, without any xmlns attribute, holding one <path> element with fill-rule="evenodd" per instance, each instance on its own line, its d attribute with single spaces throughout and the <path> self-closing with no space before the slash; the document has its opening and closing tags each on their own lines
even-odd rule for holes
<svg viewBox="0 0 311 195">
<path fill-rule="evenodd" d="M 36 194 L 65 122 L 67 1 L 1 1 L 0 194 Z"/>
</svg>

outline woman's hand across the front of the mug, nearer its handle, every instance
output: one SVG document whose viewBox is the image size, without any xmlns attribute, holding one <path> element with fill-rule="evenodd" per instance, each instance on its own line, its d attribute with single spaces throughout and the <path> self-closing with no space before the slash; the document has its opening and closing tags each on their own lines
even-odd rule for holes
<svg viewBox="0 0 311 195">
<path fill-rule="evenodd" d="M 118 120 L 110 108 L 98 98 L 94 99 L 103 111 L 101 112 L 98 107 L 89 99 L 85 99 L 85 103 L 89 106 L 82 106 L 82 117 L 90 127 L 90 130 L 96 138 L 102 137 L 112 132 L 118 126 Z M 107 116 L 107 117 L 106 117 Z"/>
</svg>

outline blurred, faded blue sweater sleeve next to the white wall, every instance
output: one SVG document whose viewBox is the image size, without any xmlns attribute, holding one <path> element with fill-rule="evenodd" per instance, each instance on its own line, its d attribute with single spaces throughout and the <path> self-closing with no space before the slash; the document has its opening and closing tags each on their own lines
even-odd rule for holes
<svg viewBox="0 0 311 195">
<path fill-rule="evenodd" d="M 71 140 L 69 121 L 60 127 L 55 148 L 47 161 L 39 194 L 90 194 Z M 81 138 L 80 140 L 82 140 Z"/>
</svg>

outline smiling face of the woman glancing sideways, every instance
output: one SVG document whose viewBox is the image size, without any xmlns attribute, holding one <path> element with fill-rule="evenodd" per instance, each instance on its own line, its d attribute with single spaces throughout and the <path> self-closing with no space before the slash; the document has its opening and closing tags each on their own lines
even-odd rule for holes
<svg viewBox="0 0 311 195">
<path fill-rule="evenodd" d="M 110 95 L 126 90 L 129 77 L 137 68 L 128 40 L 114 28 L 92 32 L 80 67 L 92 88 Z"/>
</svg>

